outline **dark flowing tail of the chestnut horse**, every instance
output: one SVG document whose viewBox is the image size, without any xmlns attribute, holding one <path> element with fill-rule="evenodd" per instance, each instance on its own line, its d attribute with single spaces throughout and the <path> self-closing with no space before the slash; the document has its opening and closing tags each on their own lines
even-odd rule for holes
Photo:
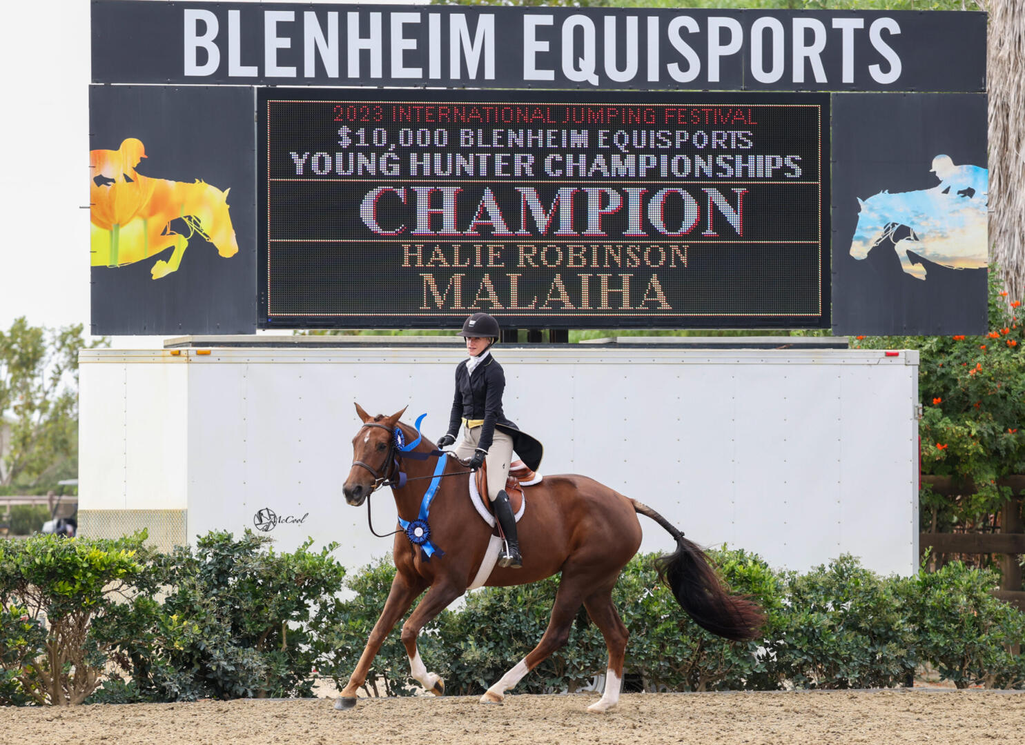
<svg viewBox="0 0 1025 745">
<path fill-rule="evenodd" d="M 701 547 L 684 538 L 669 521 L 636 499 L 633 509 L 651 518 L 676 539 L 676 550 L 655 560 L 658 576 L 687 615 L 711 633 L 734 641 L 757 638 L 765 614 L 757 604 L 732 594 L 720 581 Z"/>
</svg>

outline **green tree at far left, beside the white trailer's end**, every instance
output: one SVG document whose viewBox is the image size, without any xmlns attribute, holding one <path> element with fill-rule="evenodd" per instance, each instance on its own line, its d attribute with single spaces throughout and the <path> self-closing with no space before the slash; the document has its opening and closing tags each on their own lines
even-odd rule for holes
<svg viewBox="0 0 1025 745">
<path fill-rule="evenodd" d="M 0 330 L 0 487 L 34 487 L 78 471 L 78 353 L 82 324 Z"/>
</svg>

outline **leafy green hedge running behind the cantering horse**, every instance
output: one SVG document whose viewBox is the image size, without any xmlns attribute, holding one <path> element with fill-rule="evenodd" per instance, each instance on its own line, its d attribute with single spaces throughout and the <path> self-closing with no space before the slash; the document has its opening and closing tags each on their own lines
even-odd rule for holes
<svg viewBox="0 0 1025 745">
<path fill-rule="evenodd" d="M 0 543 L 0 703 L 311 696 L 318 675 L 340 688 L 395 576 L 389 562 L 346 576 L 333 547 L 278 553 L 248 531 L 169 554 L 144 540 Z M 630 632 L 626 672 L 647 690 L 893 687 L 924 664 L 958 688 L 1025 686 L 1025 657 L 1009 651 L 1025 639 L 1025 614 L 990 594 L 990 572 L 954 563 L 880 577 L 848 555 L 780 572 L 743 550 L 709 553 L 765 608 L 763 637 L 730 643 L 699 628 L 659 583 L 653 556 L 637 556 L 615 602 Z M 557 587 L 551 578 L 470 593 L 421 634 L 428 669 L 450 694 L 482 693 L 540 639 Z M 569 644 L 516 691 L 578 690 L 606 659 L 581 613 Z M 366 690 L 411 695 L 408 671 L 397 628 Z"/>
</svg>

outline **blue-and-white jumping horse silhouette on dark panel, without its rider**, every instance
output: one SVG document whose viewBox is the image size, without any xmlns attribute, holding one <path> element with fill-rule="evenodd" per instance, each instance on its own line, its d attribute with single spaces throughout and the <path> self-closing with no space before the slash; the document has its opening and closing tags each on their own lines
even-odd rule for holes
<svg viewBox="0 0 1025 745">
<path fill-rule="evenodd" d="M 926 267 L 908 251 L 949 268 L 986 267 L 986 202 L 983 195 L 934 188 L 884 191 L 858 200 L 851 255 L 863 259 L 889 239 L 905 274 L 925 281 Z"/>
</svg>

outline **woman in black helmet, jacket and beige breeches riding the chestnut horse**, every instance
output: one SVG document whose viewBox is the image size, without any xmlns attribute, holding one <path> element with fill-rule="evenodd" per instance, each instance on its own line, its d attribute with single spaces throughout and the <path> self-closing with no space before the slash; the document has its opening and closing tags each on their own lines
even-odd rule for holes
<svg viewBox="0 0 1025 745">
<path fill-rule="evenodd" d="M 519 569 L 523 566 L 523 557 L 517 540 L 516 518 L 505 494 L 505 480 L 514 450 L 531 469 L 537 470 L 543 448 L 534 438 L 520 431 L 502 412 L 505 374 L 491 354 L 499 335 L 498 322 L 486 313 L 475 313 L 463 323 L 459 336 L 466 339 L 468 357 L 456 366 L 449 428 L 438 441 L 438 447 L 446 448 L 455 443 L 459 423 L 464 425 L 455 454 L 463 460 L 469 458 L 469 467 L 474 470 L 487 462 L 488 498 L 505 536 L 498 566 Z"/>
</svg>

